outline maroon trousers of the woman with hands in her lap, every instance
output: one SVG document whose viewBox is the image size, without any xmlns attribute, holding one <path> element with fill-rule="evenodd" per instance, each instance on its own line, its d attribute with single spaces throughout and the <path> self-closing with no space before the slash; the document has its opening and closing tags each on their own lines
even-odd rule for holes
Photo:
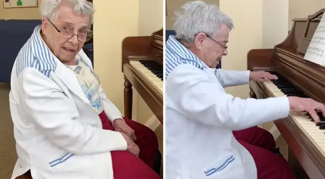
<svg viewBox="0 0 325 179">
<path fill-rule="evenodd" d="M 99 114 L 103 129 L 114 131 L 112 123 L 108 120 L 105 112 Z M 155 157 L 158 153 L 158 140 L 156 134 L 148 127 L 123 118 L 134 130 L 136 141 L 139 146 L 139 158 L 129 151 L 111 151 L 114 179 L 161 179 L 152 169 Z"/>
</svg>

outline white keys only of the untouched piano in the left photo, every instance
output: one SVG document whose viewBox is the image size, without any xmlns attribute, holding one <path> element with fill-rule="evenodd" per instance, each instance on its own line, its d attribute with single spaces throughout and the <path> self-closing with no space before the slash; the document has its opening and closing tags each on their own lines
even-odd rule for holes
<svg viewBox="0 0 325 179">
<path fill-rule="evenodd" d="M 162 94 L 163 81 L 143 66 L 139 61 L 130 61 L 130 66 L 138 70 Z"/>
</svg>

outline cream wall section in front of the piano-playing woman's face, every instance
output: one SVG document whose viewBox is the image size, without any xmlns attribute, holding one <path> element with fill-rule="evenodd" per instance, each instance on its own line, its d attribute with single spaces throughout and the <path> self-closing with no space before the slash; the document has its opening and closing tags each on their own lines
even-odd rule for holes
<svg viewBox="0 0 325 179">
<path fill-rule="evenodd" d="M 261 0 L 220 0 L 220 9 L 234 22 L 230 32 L 228 55 L 222 59 L 222 68 L 228 70 L 247 70 L 247 52 L 262 47 L 262 1 Z M 246 7 L 246 8 L 243 8 Z M 228 87 L 226 91 L 236 97 L 247 98 L 249 86 Z"/>
</svg>

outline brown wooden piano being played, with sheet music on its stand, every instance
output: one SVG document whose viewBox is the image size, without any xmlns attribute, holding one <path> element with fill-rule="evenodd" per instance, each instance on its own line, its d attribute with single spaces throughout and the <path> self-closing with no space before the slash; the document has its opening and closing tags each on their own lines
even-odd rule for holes
<svg viewBox="0 0 325 179">
<path fill-rule="evenodd" d="M 251 82 L 251 97 L 299 96 L 325 103 L 325 67 L 303 59 L 324 11 L 307 19 L 293 19 L 289 35 L 274 48 L 248 52 L 248 70 L 268 71 L 279 77 Z M 288 143 L 289 163 L 297 179 L 325 179 L 325 126 L 316 125 L 306 112 L 290 112 L 288 118 L 274 123 Z"/>
</svg>

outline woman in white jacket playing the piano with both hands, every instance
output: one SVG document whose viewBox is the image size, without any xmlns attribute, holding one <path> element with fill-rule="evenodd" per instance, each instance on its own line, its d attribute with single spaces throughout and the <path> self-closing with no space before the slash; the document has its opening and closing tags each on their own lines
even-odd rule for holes
<svg viewBox="0 0 325 179">
<path fill-rule="evenodd" d="M 176 36 L 166 42 L 167 179 L 294 179 L 275 153 L 272 135 L 256 125 L 288 117 L 290 109 L 325 114 L 325 106 L 297 97 L 239 99 L 224 87 L 276 79 L 268 72 L 216 70 L 227 55 L 232 20 L 216 5 L 182 6 Z M 177 119 L 177 120 L 176 120 Z M 244 129 L 244 130 L 242 130 Z"/>
</svg>

